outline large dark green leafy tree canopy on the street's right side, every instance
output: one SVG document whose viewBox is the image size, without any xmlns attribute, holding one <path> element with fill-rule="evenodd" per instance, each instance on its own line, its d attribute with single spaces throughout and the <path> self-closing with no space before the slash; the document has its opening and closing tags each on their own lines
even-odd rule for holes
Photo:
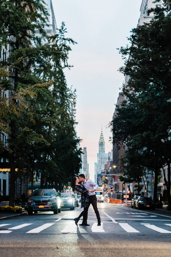
<svg viewBox="0 0 171 257">
<path fill-rule="evenodd" d="M 156 201 L 158 170 L 168 165 L 170 198 L 170 29 L 171 1 L 151 9 L 154 19 L 132 30 L 130 45 L 121 47 L 125 65 L 119 70 L 129 76 L 123 94 L 129 98 L 113 121 L 114 142 L 125 142 L 129 149 L 143 153 L 142 165 L 154 170 Z M 166 15 L 165 11 L 169 11 Z M 130 58 L 127 59 L 129 54 Z"/>
</svg>

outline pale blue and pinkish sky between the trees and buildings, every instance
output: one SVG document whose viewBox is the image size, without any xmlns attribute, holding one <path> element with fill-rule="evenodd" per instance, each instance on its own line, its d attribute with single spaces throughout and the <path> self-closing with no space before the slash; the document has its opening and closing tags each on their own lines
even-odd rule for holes
<svg viewBox="0 0 171 257">
<path fill-rule="evenodd" d="M 123 60 L 117 48 L 126 46 L 132 28 L 137 27 L 142 0 L 52 0 L 57 27 L 62 21 L 72 46 L 65 69 L 68 87 L 76 89 L 77 134 L 87 148 L 90 179 L 94 180 L 94 163 L 101 126 L 105 152 L 112 149 L 107 124 L 112 120 L 124 76 L 117 71 Z"/>
</svg>

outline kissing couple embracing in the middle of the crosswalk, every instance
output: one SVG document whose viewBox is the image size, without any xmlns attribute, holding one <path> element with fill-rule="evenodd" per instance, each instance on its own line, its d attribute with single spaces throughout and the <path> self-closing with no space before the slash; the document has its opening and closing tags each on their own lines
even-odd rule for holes
<svg viewBox="0 0 171 257">
<path fill-rule="evenodd" d="M 82 183 L 79 184 L 79 182 L 82 182 Z M 92 204 L 97 217 L 97 221 L 98 221 L 97 226 L 101 226 L 100 215 L 97 209 L 97 198 L 95 195 L 95 190 L 98 188 L 98 185 L 92 180 L 85 179 L 84 174 L 80 174 L 79 178 L 78 177 L 72 178 L 71 187 L 73 192 L 76 190 L 77 192 L 79 192 L 79 194 L 81 194 L 81 208 L 84 207 L 84 210 L 80 213 L 80 215 L 74 219 L 75 224 L 78 226 L 78 221 L 83 216 L 83 222 L 82 224 L 79 224 L 79 225 L 89 226 L 89 224 L 87 224 L 88 208 L 90 204 Z"/>
</svg>

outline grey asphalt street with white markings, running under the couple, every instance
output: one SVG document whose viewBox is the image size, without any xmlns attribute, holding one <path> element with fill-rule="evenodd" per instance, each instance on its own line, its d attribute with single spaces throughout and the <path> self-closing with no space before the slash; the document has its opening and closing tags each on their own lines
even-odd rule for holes
<svg viewBox="0 0 171 257">
<path fill-rule="evenodd" d="M 81 208 L 59 214 L 39 212 L 0 221 L 1 257 L 171 256 L 171 213 L 98 203 L 88 224 L 76 226 Z M 78 222 L 78 224 L 80 224 Z"/>
</svg>

